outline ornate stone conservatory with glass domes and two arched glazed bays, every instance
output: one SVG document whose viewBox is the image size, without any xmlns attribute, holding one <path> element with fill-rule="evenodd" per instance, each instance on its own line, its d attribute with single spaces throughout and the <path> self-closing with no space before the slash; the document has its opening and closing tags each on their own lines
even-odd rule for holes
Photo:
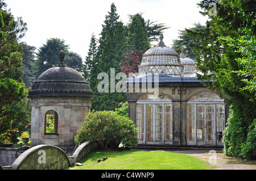
<svg viewBox="0 0 256 181">
<path fill-rule="evenodd" d="M 221 147 L 228 106 L 196 77 L 195 61 L 164 45 L 148 49 L 138 77 L 127 78 L 138 145 Z"/>
</svg>

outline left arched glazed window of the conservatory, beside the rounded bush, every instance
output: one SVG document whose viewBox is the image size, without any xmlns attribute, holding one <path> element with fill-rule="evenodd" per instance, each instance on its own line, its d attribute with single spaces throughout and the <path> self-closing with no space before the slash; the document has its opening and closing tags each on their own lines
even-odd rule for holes
<svg viewBox="0 0 256 181">
<path fill-rule="evenodd" d="M 136 103 L 139 144 L 172 144 L 172 103 L 167 95 L 143 94 Z"/>
</svg>

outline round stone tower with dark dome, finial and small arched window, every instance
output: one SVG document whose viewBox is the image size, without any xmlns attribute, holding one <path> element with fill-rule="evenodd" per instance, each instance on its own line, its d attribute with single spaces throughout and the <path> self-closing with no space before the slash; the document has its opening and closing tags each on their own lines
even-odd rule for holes
<svg viewBox="0 0 256 181">
<path fill-rule="evenodd" d="M 55 145 L 68 148 L 90 112 L 93 92 L 84 77 L 60 62 L 42 73 L 34 82 L 31 99 L 31 146 Z"/>
</svg>

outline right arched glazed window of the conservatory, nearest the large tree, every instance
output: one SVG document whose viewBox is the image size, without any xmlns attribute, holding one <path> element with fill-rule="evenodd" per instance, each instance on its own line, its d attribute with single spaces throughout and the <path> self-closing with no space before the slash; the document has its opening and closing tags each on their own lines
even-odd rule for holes
<svg viewBox="0 0 256 181">
<path fill-rule="evenodd" d="M 222 144 L 225 103 L 217 94 L 200 92 L 187 101 L 187 144 Z"/>
</svg>

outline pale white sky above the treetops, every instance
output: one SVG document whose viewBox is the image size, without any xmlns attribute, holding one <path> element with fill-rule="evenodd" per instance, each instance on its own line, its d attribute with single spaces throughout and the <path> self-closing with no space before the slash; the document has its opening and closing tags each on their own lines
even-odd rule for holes
<svg viewBox="0 0 256 181">
<path fill-rule="evenodd" d="M 100 38 L 102 24 L 112 3 L 117 7 L 123 24 L 129 22 L 129 14 L 143 13 L 145 20 L 164 23 L 164 43 L 171 47 L 178 39 L 179 30 L 193 27 L 193 23 L 205 24 L 197 3 L 200 0 L 5 0 L 14 17 L 22 17 L 28 31 L 20 40 L 40 48 L 51 38 L 64 39 L 69 50 L 87 56 L 92 33 Z M 157 43 L 153 43 L 157 44 Z"/>
</svg>

